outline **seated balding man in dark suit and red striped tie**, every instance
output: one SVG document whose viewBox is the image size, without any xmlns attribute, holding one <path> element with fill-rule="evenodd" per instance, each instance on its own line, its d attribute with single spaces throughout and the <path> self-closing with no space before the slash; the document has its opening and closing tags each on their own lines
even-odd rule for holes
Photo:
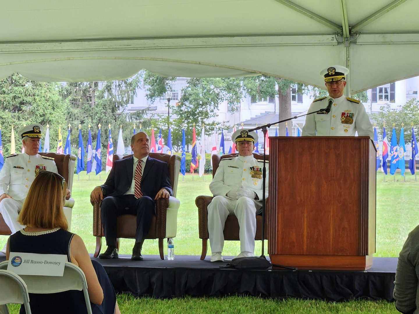
<svg viewBox="0 0 419 314">
<path fill-rule="evenodd" d="M 137 216 L 132 260 L 142 260 L 141 247 L 153 218 L 155 200 L 173 194 L 166 162 L 151 158 L 150 139 L 144 132 L 131 138 L 133 157 L 116 160 L 105 184 L 93 189 L 90 199 L 101 203 L 101 220 L 108 248 L 99 258 L 118 258 L 116 219 Z"/>
</svg>

